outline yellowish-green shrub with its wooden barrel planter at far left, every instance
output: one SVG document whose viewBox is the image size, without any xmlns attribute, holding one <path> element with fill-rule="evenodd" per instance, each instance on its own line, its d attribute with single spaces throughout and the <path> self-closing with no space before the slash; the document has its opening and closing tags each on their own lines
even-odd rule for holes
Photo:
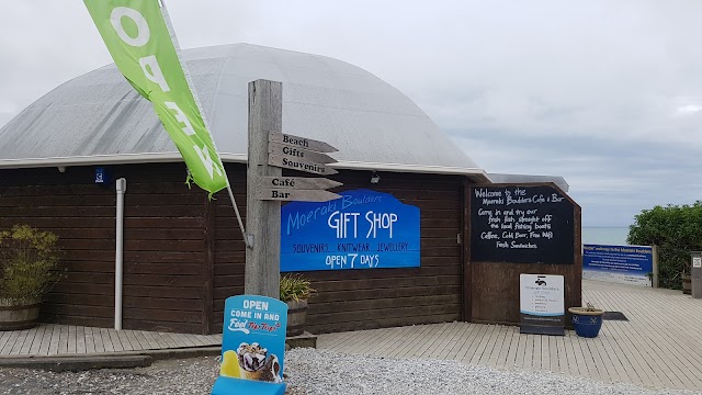
<svg viewBox="0 0 702 395">
<path fill-rule="evenodd" d="M 37 325 L 42 298 L 59 279 L 57 241 L 27 225 L 0 232 L 0 330 Z"/>
</svg>

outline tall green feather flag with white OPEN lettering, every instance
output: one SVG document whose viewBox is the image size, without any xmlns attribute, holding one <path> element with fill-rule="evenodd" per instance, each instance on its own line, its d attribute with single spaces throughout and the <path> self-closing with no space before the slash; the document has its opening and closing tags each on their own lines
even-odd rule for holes
<svg viewBox="0 0 702 395">
<path fill-rule="evenodd" d="M 176 33 L 158 0 L 83 0 L 112 58 L 127 81 L 154 103 L 192 179 L 211 194 L 227 176 L 197 97 L 179 56 Z"/>
</svg>

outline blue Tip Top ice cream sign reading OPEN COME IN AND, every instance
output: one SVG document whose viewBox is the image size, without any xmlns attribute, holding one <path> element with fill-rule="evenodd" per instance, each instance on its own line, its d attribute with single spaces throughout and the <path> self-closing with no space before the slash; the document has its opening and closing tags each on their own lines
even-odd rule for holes
<svg viewBox="0 0 702 395">
<path fill-rule="evenodd" d="M 283 394 L 287 305 L 259 295 L 225 302 L 222 365 L 213 394 Z M 280 392 L 279 392 L 280 391 Z"/>
</svg>

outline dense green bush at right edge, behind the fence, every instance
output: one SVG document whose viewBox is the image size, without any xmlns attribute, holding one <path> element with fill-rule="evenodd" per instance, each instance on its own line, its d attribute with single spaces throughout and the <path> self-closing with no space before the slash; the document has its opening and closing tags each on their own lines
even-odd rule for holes
<svg viewBox="0 0 702 395">
<path fill-rule="evenodd" d="M 702 202 L 642 211 L 630 226 L 626 241 L 658 246 L 659 285 L 681 289 L 680 273 L 690 273 L 690 252 L 702 250 Z"/>
</svg>

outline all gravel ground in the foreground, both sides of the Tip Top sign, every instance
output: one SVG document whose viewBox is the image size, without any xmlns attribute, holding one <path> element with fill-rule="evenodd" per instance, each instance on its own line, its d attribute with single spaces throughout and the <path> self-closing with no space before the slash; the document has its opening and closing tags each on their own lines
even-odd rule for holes
<svg viewBox="0 0 702 395">
<path fill-rule="evenodd" d="M 286 353 L 287 395 L 302 394 L 702 394 L 543 372 L 498 371 L 455 361 L 397 360 L 326 350 Z M 210 394 L 216 358 L 158 361 L 149 368 L 87 372 L 0 369 L 0 394 Z"/>
</svg>

